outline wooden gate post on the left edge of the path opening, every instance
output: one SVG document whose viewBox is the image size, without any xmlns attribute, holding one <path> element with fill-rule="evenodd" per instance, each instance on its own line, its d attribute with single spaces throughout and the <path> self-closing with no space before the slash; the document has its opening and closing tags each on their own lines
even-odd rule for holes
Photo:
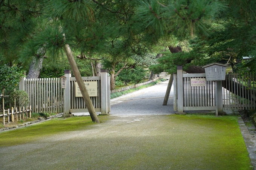
<svg viewBox="0 0 256 170">
<path fill-rule="evenodd" d="M 108 114 L 108 70 L 101 69 L 101 115 Z"/>
</svg>

